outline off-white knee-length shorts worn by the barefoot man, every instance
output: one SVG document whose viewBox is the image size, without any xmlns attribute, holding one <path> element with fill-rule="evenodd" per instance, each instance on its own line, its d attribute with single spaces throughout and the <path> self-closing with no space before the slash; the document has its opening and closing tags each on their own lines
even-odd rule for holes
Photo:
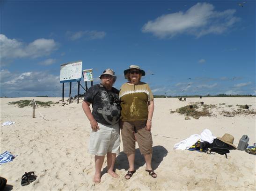
<svg viewBox="0 0 256 191">
<path fill-rule="evenodd" d="M 115 125 L 103 125 L 98 123 L 100 130 L 90 134 L 89 153 L 97 156 L 105 156 L 108 152 L 119 154 L 120 130 L 119 123 Z"/>
</svg>

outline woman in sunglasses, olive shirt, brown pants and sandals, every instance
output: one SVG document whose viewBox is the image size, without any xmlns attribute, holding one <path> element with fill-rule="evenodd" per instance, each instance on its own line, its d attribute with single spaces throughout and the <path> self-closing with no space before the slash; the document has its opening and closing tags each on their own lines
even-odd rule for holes
<svg viewBox="0 0 256 191">
<path fill-rule="evenodd" d="M 148 84 L 140 82 L 145 71 L 139 66 L 131 65 L 124 70 L 128 82 L 121 86 L 119 97 L 121 100 L 120 129 L 124 145 L 124 153 L 128 157 L 129 171 L 125 175 L 130 179 L 135 172 L 135 136 L 139 150 L 146 161 L 146 171 L 152 177 L 157 177 L 152 170 L 152 116 L 154 112 L 154 97 Z"/>
</svg>

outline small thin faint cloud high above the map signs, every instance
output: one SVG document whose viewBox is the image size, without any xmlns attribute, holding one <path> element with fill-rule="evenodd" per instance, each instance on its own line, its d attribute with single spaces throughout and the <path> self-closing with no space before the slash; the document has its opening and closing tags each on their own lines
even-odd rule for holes
<svg viewBox="0 0 256 191">
<path fill-rule="evenodd" d="M 80 38 L 84 38 L 86 40 L 95 40 L 95 39 L 103 39 L 106 35 L 104 31 L 78 31 L 78 32 L 71 32 L 67 31 L 66 35 L 69 36 L 69 38 L 72 41 L 78 40 Z"/>
</svg>

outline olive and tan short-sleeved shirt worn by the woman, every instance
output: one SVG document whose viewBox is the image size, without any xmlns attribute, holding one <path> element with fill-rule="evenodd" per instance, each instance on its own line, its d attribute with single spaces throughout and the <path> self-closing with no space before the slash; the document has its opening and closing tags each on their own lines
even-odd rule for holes
<svg viewBox="0 0 256 191">
<path fill-rule="evenodd" d="M 121 118 L 123 121 L 146 121 L 148 103 L 153 100 L 149 85 L 139 82 L 138 85 L 124 83 L 119 92 L 121 100 Z"/>
</svg>

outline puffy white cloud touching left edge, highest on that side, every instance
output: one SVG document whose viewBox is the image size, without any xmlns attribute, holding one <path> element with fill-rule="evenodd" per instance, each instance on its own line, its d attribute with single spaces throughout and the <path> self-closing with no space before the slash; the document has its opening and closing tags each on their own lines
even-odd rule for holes
<svg viewBox="0 0 256 191">
<path fill-rule="evenodd" d="M 3 59 L 13 58 L 37 58 L 50 55 L 57 49 L 57 43 L 53 39 L 37 39 L 25 44 L 16 39 L 8 39 L 0 34 L 0 57 Z"/>
</svg>

